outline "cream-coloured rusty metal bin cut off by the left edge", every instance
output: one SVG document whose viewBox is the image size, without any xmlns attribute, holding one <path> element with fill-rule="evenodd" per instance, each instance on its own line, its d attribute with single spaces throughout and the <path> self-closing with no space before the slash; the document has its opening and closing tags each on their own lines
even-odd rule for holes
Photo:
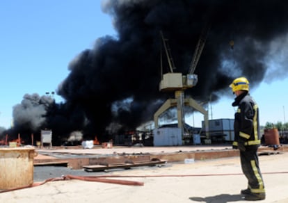
<svg viewBox="0 0 288 203">
<path fill-rule="evenodd" d="M 0 148 L 0 190 L 33 184 L 34 147 Z"/>
</svg>

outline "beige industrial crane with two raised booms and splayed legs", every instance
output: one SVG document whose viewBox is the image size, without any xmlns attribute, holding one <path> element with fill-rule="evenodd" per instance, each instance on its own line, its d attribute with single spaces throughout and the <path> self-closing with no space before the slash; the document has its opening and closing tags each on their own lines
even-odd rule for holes
<svg viewBox="0 0 288 203">
<path fill-rule="evenodd" d="M 170 68 L 170 72 L 166 74 L 162 74 L 162 63 L 161 63 L 161 82 L 159 85 L 159 90 L 162 92 L 167 91 L 175 91 L 175 99 L 167 99 L 166 102 L 158 109 L 156 113 L 154 113 L 154 125 L 155 128 L 159 127 L 159 116 L 168 110 L 168 108 L 177 106 L 177 119 L 178 119 L 178 128 L 182 130 L 182 137 L 184 136 L 184 111 L 183 106 L 191 106 L 195 110 L 199 111 L 204 115 L 205 120 L 205 132 L 206 138 L 209 139 L 209 129 L 208 129 L 208 111 L 205 110 L 200 104 L 197 103 L 191 97 L 184 98 L 184 90 L 187 88 L 193 88 L 198 82 L 198 76 L 194 74 L 195 68 L 197 67 L 199 58 L 202 54 L 202 50 L 205 46 L 207 34 L 209 32 L 210 26 L 205 26 L 200 34 L 200 38 L 198 40 L 198 44 L 195 48 L 193 58 L 191 61 L 191 65 L 189 67 L 188 74 L 184 75 L 181 72 L 174 72 L 175 65 L 173 62 L 173 58 L 170 54 L 170 48 L 168 47 L 168 40 L 163 37 L 162 31 L 161 39 L 163 42 L 163 47 L 166 52 L 166 56 L 168 59 L 168 64 Z"/>
</svg>

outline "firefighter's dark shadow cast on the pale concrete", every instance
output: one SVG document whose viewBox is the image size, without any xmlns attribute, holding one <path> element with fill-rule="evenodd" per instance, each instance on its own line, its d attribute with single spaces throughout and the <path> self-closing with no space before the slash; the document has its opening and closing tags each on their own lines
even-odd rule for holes
<svg viewBox="0 0 288 203">
<path fill-rule="evenodd" d="M 209 197 L 189 197 L 190 200 L 196 202 L 207 202 L 207 203 L 225 203 L 225 202 L 237 202 L 243 201 L 243 195 L 230 195 L 230 194 L 221 194 Z"/>
</svg>

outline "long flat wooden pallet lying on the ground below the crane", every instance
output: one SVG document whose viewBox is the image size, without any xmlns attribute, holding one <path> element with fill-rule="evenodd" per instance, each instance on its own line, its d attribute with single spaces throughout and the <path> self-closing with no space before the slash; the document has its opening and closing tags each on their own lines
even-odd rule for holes
<svg viewBox="0 0 288 203">
<path fill-rule="evenodd" d="M 105 171 L 111 170 L 115 168 L 123 168 L 129 169 L 134 167 L 141 167 L 141 166 L 154 166 L 154 165 L 164 165 L 167 163 L 167 160 L 160 160 L 160 159 L 152 159 L 151 161 L 125 161 L 125 163 L 109 163 L 109 164 L 98 164 L 98 165 L 83 165 L 83 168 L 87 172 L 97 172 L 97 171 Z"/>
</svg>

